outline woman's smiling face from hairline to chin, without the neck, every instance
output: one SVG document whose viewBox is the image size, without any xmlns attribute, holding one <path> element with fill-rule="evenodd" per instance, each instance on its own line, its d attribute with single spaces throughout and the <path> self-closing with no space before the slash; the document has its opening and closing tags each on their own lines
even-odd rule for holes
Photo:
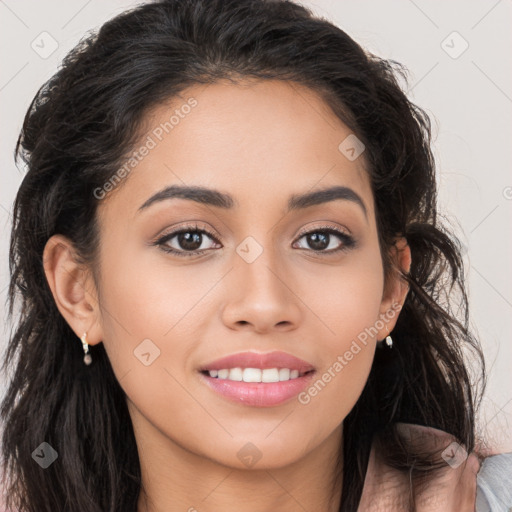
<svg viewBox="0 0 512 512">
<path fill-rule="evenodd" d="M 98 338 L 139 440 L 259 468 L 338 443 L 397 317 L 364 152 L 279 81 L 191 87 L 146 127 L 98 212 Z"/>
</svg>

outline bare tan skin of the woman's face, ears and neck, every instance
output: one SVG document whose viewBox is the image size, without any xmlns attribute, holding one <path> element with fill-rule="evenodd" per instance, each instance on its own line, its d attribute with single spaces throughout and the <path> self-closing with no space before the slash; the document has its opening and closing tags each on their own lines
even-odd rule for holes
<svg viewBox="0 0 512 512">
<path fill-rule="evenodd" d="M 398 314 L 306 405 L 232 403 L 198 369 L 237 352 L 282 350 L 321 376 L 358 334 L 403 304 L 405 282 L 384 282 L 364 153 L 347 159 L 338 146 L 350 130 L 315 92 L 280 81 L 190 87 L 148 114 L 141 140 L 189 97 L 197 106 L 100 202 L 101 288 L 61 235 L 44 252 L 50 288 L 76 335 L 104 343 L 127 395 L 145 487 L 139 512 L 285 511 L 297 503 L 338 510 L 341 488 L 332 496 L 328 483 L 343 420 Z M 172 199 L 138 212 L 173 184 L 215 188 L 237 205 Z M 335 185 L 356 192 L 367 214 L 349 200 L 286 213 L 290 195 Z M 203 235 L 203 255 L 150 244 L 196 221 L 219 241 Z M 323 254 L 298 236 L 326 225 L 349 233 L 355 246 Z M 248 236 L 263 249 L 251 263 L 236 252 Z M 186 251 L 178 237 L 170 244 Z M 330 236 L 328 250 L 342 245 Z M 403 240 L 392 255 L 409 269 Z M 148 366 L 134 356 L 145 339 L 160 350 Z M 237 456 L 249 442 L 261 455 L 252 467 Z"/>
</svg>

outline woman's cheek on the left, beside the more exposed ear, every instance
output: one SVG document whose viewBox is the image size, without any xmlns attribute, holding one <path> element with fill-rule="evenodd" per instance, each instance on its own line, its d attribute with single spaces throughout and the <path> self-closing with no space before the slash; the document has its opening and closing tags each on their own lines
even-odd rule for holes
<svg viewBox="0 0 512 512">
<path fill-rule="evenodd" d="M 193 306 L 190 276 L 155 266 L 148 258 L 153 249 L 141 251 L 121 235 L 105 235 L 102 246 L 103 344 L 119 379 L 130 372 L 150 383 L 156 378 L 154 368 L 165 358 L 165 343 Z M 175 347 L 177 357 L 180 347 Z"/>
</svg>

